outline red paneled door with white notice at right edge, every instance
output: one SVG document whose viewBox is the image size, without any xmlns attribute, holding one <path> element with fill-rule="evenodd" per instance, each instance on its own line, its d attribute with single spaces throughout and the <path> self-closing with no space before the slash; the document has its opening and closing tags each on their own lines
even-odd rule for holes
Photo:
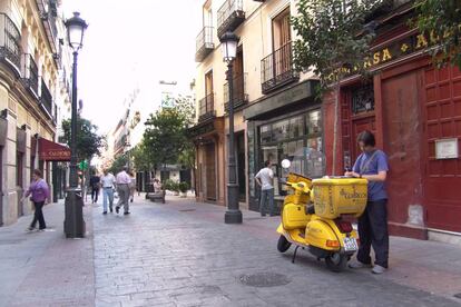
<svg viewBox="0 0 461 307">
<path fill-rule="evenodd" d="M 461 72 L 457 68 L 424 72 L 424 200 L 428 227 L 461 231 L 461 159 L 437 159 L 435 141 L 458 139 L 461 152 Z"/>
</svg>

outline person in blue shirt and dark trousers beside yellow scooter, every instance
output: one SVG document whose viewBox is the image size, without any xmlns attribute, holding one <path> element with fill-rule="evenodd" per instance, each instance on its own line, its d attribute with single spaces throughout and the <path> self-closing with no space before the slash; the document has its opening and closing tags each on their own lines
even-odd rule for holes
<svg viewBox="0 0 461 307">
<path fill-rule="evenodd" d="M 363 151 L 356 159 L 352 171 L 346 176 L 365 178 L 369 180 L 369 199 L 363 215 L 359 218 L 360 247 L 356 261 L 351 261 L 351 268 L 371 267 L 371 247 L 375 254 L 372 269 L 374 274 L 382 274 L 388 269 L 389 232 L 388 232 L 388 194 L 385 179 L 389 171 L 388 156 L 375 148 L 374 135 L 363 131 L 357 138 Z"/>
</svg>

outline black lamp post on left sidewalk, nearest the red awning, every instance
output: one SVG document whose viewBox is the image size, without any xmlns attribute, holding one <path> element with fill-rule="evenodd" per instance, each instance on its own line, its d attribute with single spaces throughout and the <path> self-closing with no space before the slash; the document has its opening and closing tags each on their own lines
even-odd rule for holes
<svg viewBox="0 0 461 307">
<path fill-rule="evenodd" d="M 84 220 L 84 200 L 81 198 L 81 189 L 78 188 L 77 174 L 77 58 L 78 51 L 82 47 L 84 32 L 88 24 L 80 18 L 80 13 L 75 12 L 73 17 L 66 21 L 67 38 L 69 46 L 73 50 L 72 65 L 72 113 L 70 128 L 70 175 L 69 189 L 66 196 L 66 219 L 65 232 L 68 238 L 85 237 Z"/>
</svg>

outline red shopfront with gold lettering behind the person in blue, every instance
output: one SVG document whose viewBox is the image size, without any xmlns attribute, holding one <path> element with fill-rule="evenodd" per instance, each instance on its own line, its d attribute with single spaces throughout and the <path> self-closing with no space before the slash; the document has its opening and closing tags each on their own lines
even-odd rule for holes
<svg viewBox="0 0 461 307">
<path fill-rule="evenodd" d="M 351 76 L 340 96 L 336 169 L 360 155 L 356 136 L 374 131 L 389 156 L 392 234 L 425 239 L 461 235 L 461 72 L 435 69 L 425 50 L 435 44 L 408 26 L 413 1 L 394 1 L 375 18 L 376 39 L 364 66 L 369 82 Z M 323 101 L 327 166 L 333 165 L 333 97 Z M 452 238 L 452 236 L 451 236 Z"/>
</svg>

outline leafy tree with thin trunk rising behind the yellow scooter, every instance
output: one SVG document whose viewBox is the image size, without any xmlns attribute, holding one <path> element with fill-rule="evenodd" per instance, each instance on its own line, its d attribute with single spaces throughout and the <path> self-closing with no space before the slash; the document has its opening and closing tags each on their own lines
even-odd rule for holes
<svg viewBox="0 0 461 307">
<path fill-rule="evenodd" d="M 384 1 L 300 0 L 292 24 L 294 62 L 298 70 L 313 69 L 320 79 L 320 93 L 333 91 L 333 174 L 336 172 L 340 82 L 349 73 L 363 75 L 370 57 L 373 23 L 366 16 Z"/>
</svg>

